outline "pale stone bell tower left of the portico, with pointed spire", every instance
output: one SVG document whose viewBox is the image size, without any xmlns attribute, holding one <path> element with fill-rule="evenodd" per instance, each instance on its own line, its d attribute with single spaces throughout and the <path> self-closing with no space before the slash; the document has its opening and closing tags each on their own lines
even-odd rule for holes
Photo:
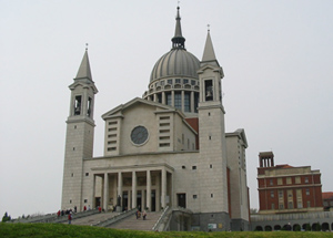
<svg viewBox="0 0 333 238">
<path fill-rule="evenodd" d="M 98 90 L 92 81 L 88 49 L 71 90 L 70 112 L 67 120 L 61 208 L 78 207 L 82 210 L 83 159 L 93 154 L 94 95 Z"/>
</svg>

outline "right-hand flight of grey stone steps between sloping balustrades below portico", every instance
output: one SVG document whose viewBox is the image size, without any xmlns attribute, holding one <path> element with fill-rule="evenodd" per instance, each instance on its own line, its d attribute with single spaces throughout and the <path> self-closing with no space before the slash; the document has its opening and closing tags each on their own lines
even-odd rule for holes
<svg viewBox="0 0 333 238">
<path fill-rule="evenodd" d="M 108 228 L 114 229 L 131 229 L 131 230 L 152 230 L 153 226 L 162 215 L 162 211 L 147 213 L 145 220 L 141 218 L 137 219 L 135 215 L 132 215 L 125 219 L 114 223 Z"/>
</svg>

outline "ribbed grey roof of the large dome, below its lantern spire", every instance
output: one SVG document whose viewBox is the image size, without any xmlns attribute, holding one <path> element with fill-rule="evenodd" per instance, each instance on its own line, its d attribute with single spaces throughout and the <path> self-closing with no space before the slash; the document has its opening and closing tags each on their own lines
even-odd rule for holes
<svg viewBox="0 0 333 238">
<path fill-rule="evenodd" d="M 182 48 L 174 48 L 158 60 L 151 72 L 150 82 L 175 76 L 198 79 L 199 68 L 200 61 L 196 56 Z"/>
</svg>

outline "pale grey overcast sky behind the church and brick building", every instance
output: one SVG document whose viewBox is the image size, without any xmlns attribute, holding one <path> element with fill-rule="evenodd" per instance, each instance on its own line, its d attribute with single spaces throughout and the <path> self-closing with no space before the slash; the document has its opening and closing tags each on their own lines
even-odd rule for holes
<svg viewBox="0 0 333 238">
<path fill-rule="evenodd" d="M 261 151 L 311 165 L 332 192 L 333 1 L 182 0 L 189 52 L 202 58 L 206 24 L 224 70 L 226 131 L 244 128 L 251 207 Z M 85 43 L 101 115 L 148 89 L 171 49 L 176 0 L 0 0 L 0 216 L 60 208 L 70 90 Z"/>
</svg>

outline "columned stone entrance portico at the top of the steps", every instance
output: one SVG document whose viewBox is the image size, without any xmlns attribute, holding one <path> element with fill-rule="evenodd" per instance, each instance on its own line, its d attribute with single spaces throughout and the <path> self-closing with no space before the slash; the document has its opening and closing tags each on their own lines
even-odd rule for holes
<svg viewBox="0 0 333 238">
<path fill-rule="evenodd" d="M 149 208 L 159 211 L 172 205 L 173 168 L 167 164 L 91 168 L 92 207 L 109 210 L 119 205 L 122 210 Z"/>
</svg>

